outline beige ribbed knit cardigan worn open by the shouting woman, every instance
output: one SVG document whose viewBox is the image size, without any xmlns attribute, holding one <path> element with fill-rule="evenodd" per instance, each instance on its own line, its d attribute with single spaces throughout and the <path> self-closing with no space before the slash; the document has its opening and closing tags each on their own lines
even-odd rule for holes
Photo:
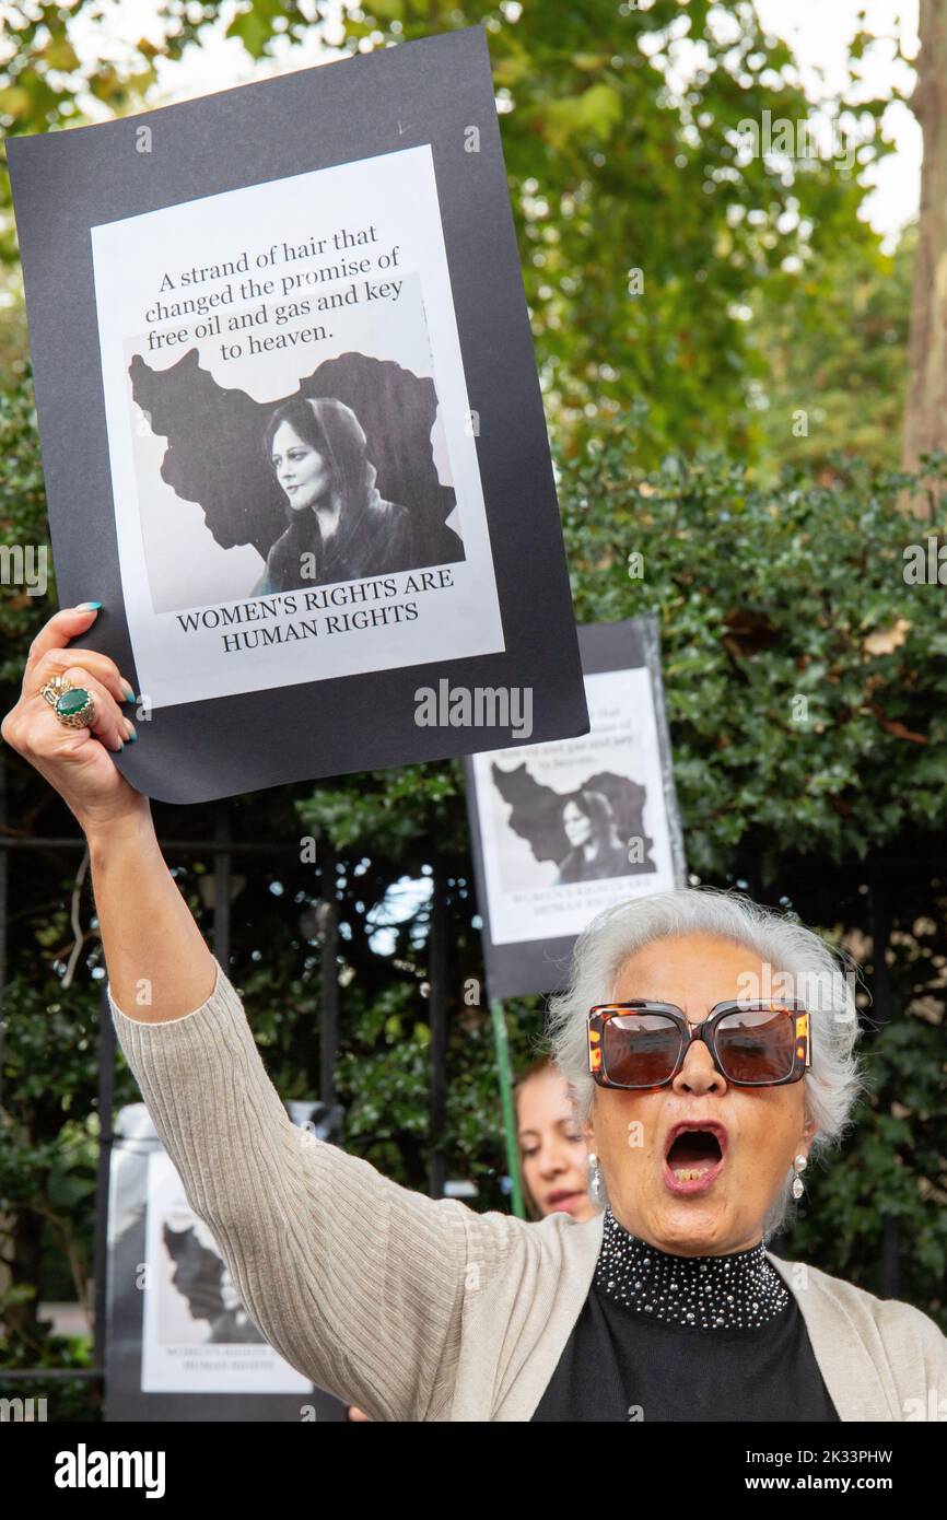
<svg viewBox="0 0 947 1520">
<path fill-rule="evenodd" d="M 261 1335 L 372 1420 L 527 1421 L 585 1303 L 603 1216 L 477 1213 L 316 1140 L 289 1119 L 216 965 L 207 1002 L 166 1023 L 108 997 L 190 1207 Z M 947 1420 L 933 1319 L 766 1254 L 842 1420 Z"/>
</svg>

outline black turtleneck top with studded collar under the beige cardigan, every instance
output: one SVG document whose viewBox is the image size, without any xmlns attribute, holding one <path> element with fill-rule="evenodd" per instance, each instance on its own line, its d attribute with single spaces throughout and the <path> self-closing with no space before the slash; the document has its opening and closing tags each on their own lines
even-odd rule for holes
<svg viewBox="0 0 947 1520">
<path fill-rule="evenodd" d="M 763 1242 L 658 1251 L 605 1211 L 588 1298 L 534 1421 L 838 1421 Z"/>
</svg>

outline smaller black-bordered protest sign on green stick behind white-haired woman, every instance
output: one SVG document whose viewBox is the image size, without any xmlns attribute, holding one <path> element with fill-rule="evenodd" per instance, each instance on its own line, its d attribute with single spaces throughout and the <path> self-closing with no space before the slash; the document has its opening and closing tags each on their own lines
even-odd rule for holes
<svg viewBox="0 0 947 1520">
<path fill-rule="evenodd" d="M 550 993 L 613 903 L 687 885 L 654 617 L 579 628 L 591 728 L 465 760 L 493 999 Z"/>
</svg>

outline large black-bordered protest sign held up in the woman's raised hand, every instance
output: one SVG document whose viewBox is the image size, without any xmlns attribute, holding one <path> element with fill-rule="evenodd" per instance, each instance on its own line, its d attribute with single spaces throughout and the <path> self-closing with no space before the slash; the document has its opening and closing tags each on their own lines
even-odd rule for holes
<svg viewBox="0 0 947 1520">
<path fill-rule="evenodd" d="M 8 150 L 58 590 L 140 693 L 129 781 L 584 733 L 483 30 Z"/>
</svg>

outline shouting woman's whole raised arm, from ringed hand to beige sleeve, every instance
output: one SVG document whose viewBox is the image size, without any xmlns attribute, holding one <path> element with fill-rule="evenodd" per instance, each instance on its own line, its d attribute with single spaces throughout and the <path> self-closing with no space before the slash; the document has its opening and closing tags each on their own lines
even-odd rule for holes
<svg viewBox="0 0 947 1520">
<path fill-rule="evenodd" d="M 521 1225 L 413 1193 L 292 1123 L 149 801 L 108 752 L 128 734 L 122 676 L 105 655 L 65 648 L 93 616 L 50 619 L 0 733 L 87 834 L 112 1017 L 158 1135 L 286 1360 L 375 1420 L 435 1417 L 450 1403 L 468 1263 L 482 1286 Z M 61 725 L 38 695 L 52 673 L 93 693 L 91 730 Z"/>
</svg>

